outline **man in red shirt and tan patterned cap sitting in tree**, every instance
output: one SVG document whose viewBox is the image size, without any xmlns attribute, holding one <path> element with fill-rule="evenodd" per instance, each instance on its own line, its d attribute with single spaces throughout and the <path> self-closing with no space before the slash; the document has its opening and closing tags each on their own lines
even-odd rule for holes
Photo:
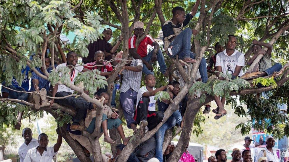
<svg viewBox="0 0 289 162">
<path fill-rule="evenodd" d="M 134 59 L 140 59 L 143 63 L 142 72 L 145 74 L 154 74 L 152 63 L 158 61 L 160 65 L 160 71 L 164 75 L 168 75 L 168 68 L 166 67 L 165 60 L 163 58 L 163 53 L 160 50 L 160 45 L 155 42 L 150 35 L 145 36 L 145 38 L 136 47 L 136 40 L 144 34 L 144 23 L 135 22 L 134 23 L 134 35 L 129 38 L 129 53 L 134 57 Z M 147 53 L 147 45 L 154 47 L 152 51 Z"/>
</svg>

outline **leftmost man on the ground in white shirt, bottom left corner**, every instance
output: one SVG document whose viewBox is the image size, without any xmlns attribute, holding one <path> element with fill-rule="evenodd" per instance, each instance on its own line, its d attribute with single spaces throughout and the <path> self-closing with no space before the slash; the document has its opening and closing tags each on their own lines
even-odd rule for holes
<svg viewBox="0 0 289 162">
<path fill-rule="evenodd" d="M 31 148 L 38 146 L 38 142 L 35 138 L 32 138 L 32 131 L 30 128 L 24 128 L 22 130 L 22 137 L 24 138 L 24 143 L 18 149 L 18 155 L 20 158 L 20 162 L 24 161 L 24 158 Z"/>
</svg>

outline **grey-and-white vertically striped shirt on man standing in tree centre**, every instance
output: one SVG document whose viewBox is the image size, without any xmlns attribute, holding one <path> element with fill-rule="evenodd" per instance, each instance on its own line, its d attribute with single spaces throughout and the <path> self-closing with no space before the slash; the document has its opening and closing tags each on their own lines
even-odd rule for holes
<svg viewBox="0 0 289 162">
<path fill-rule="evenodd" d="M 142 60 L 140 59 L 133 59 L 131 61 L 130 66 L 142 66 Z M 134 91 L 139 91 L 140 88 L 140 81 L 142 80 L 142 71 L 130 71 L 130 70 L 123 70 L 122 71 L 123 77 L 122 77 L 122 84 L 121 84 L 121 92 L 126 92 L 130 88 L 132 88 Z"/>
</svg>

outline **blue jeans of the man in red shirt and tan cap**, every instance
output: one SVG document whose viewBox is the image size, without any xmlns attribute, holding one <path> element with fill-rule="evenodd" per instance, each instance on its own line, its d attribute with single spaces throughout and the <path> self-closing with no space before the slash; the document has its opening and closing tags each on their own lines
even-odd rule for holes
<svg viewBox="0 0 289 162">
<path fill-rule="evenodd" d="M 152 54 L 153 54 L 153 50 L 150 51 L 145 57 L 143 57 L 143 59 L 149 63 L 150 60 L 152 60 Z M 158 64 L 160 65 L 160 71 L 164 74 L 166 72 L 167 67 L 166 67 L 165 59 L 163 58 L 163 53 L 160 49 L 157 52 L 157 60 L 158 60 Z M 154 75 L 154 72 L 150 71 L 145 64 L 143 64 L 142 72 L 145 74 Z"/>
</svg>

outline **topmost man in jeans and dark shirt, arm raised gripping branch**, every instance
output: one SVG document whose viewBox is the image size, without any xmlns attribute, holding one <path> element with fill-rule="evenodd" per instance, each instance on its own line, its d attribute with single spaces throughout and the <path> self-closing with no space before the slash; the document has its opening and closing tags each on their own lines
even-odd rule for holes
<svg viewBox="0 0 289 162">
<path fill-rule="evenodd" d="M 189 14 L 185 14 L 182 7 L 174 7 L 173 18 L 163 24 L 164 49 L 169 57 L 176 58 L 178 55 L 186 63 L 196 62 L 195 54 L 191 52 L 191 37 L 192 34 L 197 35 L 198 31 L 190 28 L 183 30 L 183 27 L 195 16 L 199 4 L 200 0 L 197 0 Z M 203 83 L 208 80 L 206 64 L 205 58 L 202 58 L 199 70 Z"/>
</svg>

